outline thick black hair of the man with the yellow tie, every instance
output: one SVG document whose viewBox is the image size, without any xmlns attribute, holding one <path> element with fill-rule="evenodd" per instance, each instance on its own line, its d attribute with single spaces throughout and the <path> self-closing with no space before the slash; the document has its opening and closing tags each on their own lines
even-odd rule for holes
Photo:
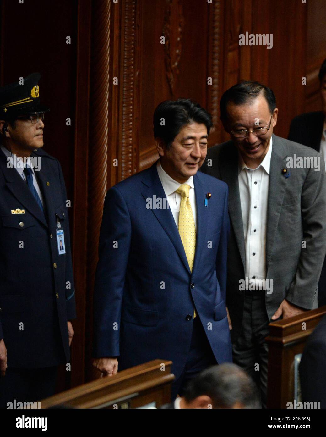
<svg viewBox="0 0 326 437">
<path fill-rule="evenodd" d="M 198 103 L 190 99 L 165 100 L 154 111 L 154 138 L 161 138 L 169 148 L 182 126 L 192 122 L 204 124 L 207 135 L 213 127 L 212 116 Z"/>
</svg>

